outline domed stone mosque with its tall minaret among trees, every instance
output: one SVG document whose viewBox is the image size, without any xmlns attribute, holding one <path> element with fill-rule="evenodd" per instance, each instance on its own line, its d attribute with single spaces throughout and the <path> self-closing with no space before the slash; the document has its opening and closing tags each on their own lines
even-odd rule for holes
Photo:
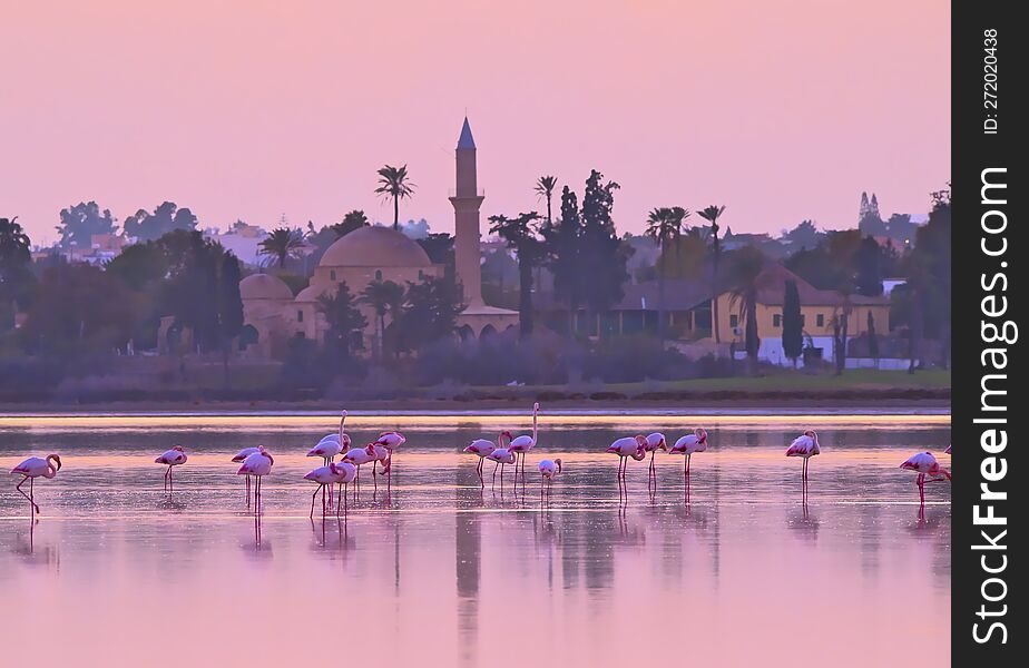
<svg viewBox="0 0 1029 668">
<path fill-rule="evenodd" d="M 461 128 L 457 154 L 457 187 L 450 203 L 454 210 L 454 265 L 463 287 L 464 311 L 458 316 L 457 335 L 481 338 L 518 325 L 518 312 L 488 306 L 482 301 L 479 190 L 476 141 L 468 119 Z M 362 227 L 340 237 L 322 255 L 311 283 L 295 297 L 290 287 L 271 274 L 253 274 L 239 282 L 247 350 L 261 356 L 281 356 L 288 340 L 304 337 L 323 342 L 329 324 L 317 310 L 321 295 L 335 294 L 345 282 L 352 295 L 360 295 L 375 279 L 400 285 L 428 276 L 442 276 L 443 265 L 433 264 L 418 242 L 392 227 Z M 375 315 L 366 305 L 364 350 L 375 336 Z M 386 325 L 389 326 L 389 320 Z"/>
</svg>

